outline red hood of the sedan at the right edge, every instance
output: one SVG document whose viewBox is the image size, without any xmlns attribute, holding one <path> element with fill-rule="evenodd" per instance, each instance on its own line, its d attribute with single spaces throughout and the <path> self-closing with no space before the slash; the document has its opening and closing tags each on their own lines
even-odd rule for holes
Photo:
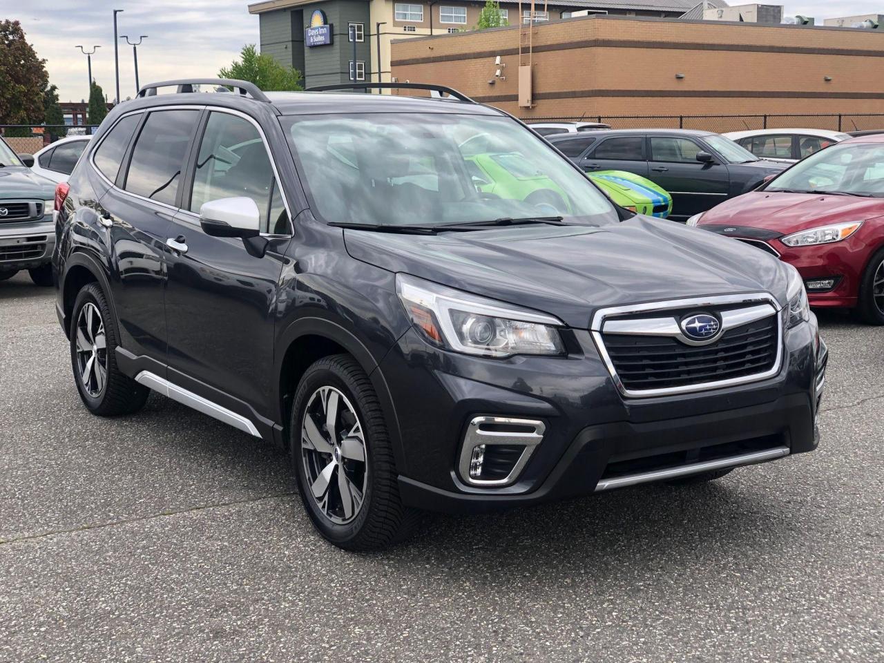
<svg viewBox="0 0 884 663">
<path fill-rule="evenodd" d="M 788 235 L 818 225 L 865 221 L 884 215 L 884 198 L 751 191 L 705 212 L 699 225 L 760 228 Z"/>
</svg>

